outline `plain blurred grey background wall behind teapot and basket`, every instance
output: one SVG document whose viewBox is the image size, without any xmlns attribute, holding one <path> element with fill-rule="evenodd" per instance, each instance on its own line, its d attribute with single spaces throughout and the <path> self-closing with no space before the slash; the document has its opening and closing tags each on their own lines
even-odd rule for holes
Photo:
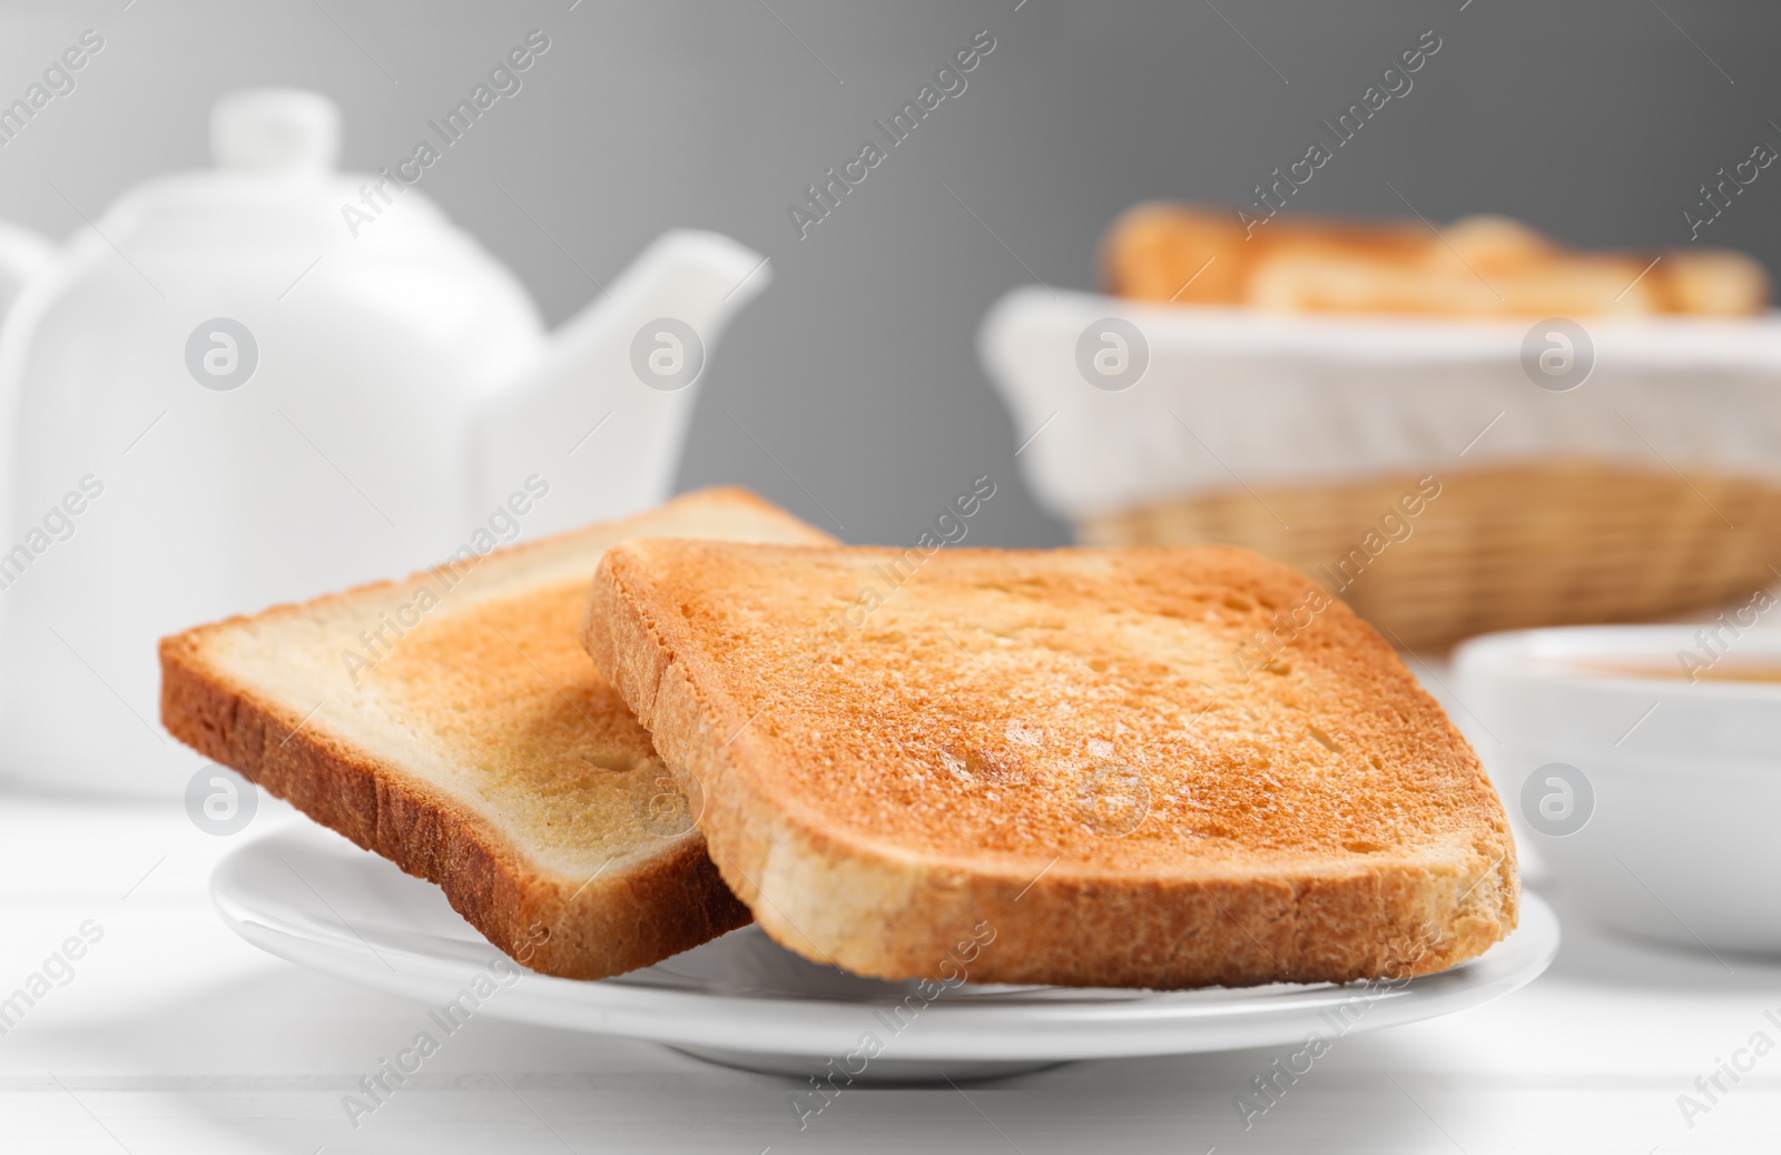
<svg viewBox="0 0 1781 1155">
<path fill-rule="evenodd" d="M 606 278 L 664 228 L 771 256 L 680 486 L 741 482 L 850 541 L 910 541 L 988 473 L 999 493 L 971 541 L 1051 545 L 1067 529 L 1013 461 L 1031 431 L 976 363 L 983 310 L 1033 276 L 1090 288 L 1101 231 L 1134 201 L 1247 199 L 1425 28 L 1443 48 L 1414 91 L 1291 212 L 1398 215 L 1391 182 L 1434 221 L 1507 212 L 1576 244 L 1676 246 L 1699 183 L 1758 141 L 1781 148 L 1772 4 L 1215 2 L 9 4 L 5 101 L 82 28 L 107 46 L 0 149 L 0 217 L 66 237 L 80 219 L 50 182 L 96 217 L 146 176 L 208 164 L 210 101 L 240 85 L 328 93 L 346 166 L 376 169 L 543 28 L 525 89 L 424 189 L 550 320 L 595 294 L 577 263 Z M 789 201 L 981 28 L 997 46 L 969 91 L 798 240 Z M 1777 187 L 1765 171 L 1706 238 L 1781 265 Z"/>
</svg>

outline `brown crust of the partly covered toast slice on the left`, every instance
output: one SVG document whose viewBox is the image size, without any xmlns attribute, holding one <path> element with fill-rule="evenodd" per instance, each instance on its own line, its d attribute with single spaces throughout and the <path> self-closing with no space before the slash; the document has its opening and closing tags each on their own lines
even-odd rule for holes
<svg viewBox="0 0 1781 1155">
<path fill-rule="evenodd" d="M 743 489 L 702 491 L 673 505 L 689 502 L 734 504 L 782 520 L 787 534 L 826 539 Z M 650 516 L 597 529 L 647 527 Z M 525 557 L 557 541 L 511 546 L 502 555 L 509 561 Z M 602 979 L 648 966 L 746 925 L 748 908 L 723 884 L 696 829 L 613 863 L 597 879 L 541 870 L 463 799 L 317 724 L 306 726 L 301 708 L 271 699 L 219 671 L 207 650 L 233 626 L 349 603 L 431 573 L 436 571 L 403 582 L 372 582 L 162 639 L 162 723 L 199 755 L 233 767 L 408 874 L 436 883 L 452 908 L 490 943 L 536 972 Z"/>
</svg>

